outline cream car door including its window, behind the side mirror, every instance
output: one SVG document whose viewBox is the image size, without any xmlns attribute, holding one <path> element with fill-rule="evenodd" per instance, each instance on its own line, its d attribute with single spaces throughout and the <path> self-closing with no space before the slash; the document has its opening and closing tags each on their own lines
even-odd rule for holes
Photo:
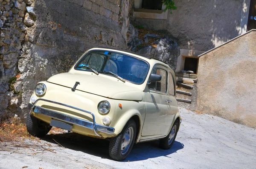
<svg viewBox="0 0 256 169">
<path fill-rule="evenodd" d="M 170 124 L 168 95 L 168 69 L 156 65 L 152 72 L 162 76 L 161 81 L 151 82 L 145 88 L 146 115 L 142 129 L 142 136 L 166 134 Z"/>
</svg>

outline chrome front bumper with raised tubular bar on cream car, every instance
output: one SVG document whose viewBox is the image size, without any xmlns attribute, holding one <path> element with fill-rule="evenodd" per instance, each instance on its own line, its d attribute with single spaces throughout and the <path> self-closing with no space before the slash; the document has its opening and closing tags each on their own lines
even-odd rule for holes
<svg viewBox="0 0 256 169">
<path fill-rule="evenodd" d="M 40 107 L 40 106 L 35 106 L 35 104 L 38 101 L 46 101 L 46 102 L 49 102 L 49 103 L 59 104 L 59 105 L 65 106 L 65 107 L 70 107 L 70 108 L 82 111 L 84 113 L 88 113 L 88 114 L 93 116 L 93 122 L 86 121 L 86 120 L 83 120 L 83 119 L 80 119 L 80 118 L 76 118 L 76 117 L 73 117 L 73 116 L 70 116 L 70 115 L 65 115 L 63 113 L 55 112 L 53 110 L 49 110 L 49 109 L 46 109 L 46 108 L 43 108 L 43 107 Z M 31 107 L 31 104 L 29 105 L 29 108 L 30 107 Z M 90 130 L 94 130 L 95 134 L 99 137 L 102 137 L 102 135 L 100 135 L 98 133 L 98 131 L 106 133 L 106 134 L 113 134 L 115 132 L 115 129 L 113 127 L 108 127 L 108 126 L 104 126 L 104 125 L 101 125 L 101 124 L 96 124 L 95 117 L 94 117 L 93 113 L 88 112 L 86 110 L 79 109 L 77 107 L 67 105 L 67 104 L 59 103 L 59 102 L 56 102 L 56 101 L 50 101 L 50 100 L 46 100 L 46 99 L 38 99 L 32 105 L 32 107 L 30 109 L 30 114 L 31 114 L 31 111 L 33 111 L 35 113 L 47 115 L 51 118 L 67 122 L 69 124 L 76 124 L 78 126 L 85 127 L 87 129 L 90 129 Z"/>
</svg>

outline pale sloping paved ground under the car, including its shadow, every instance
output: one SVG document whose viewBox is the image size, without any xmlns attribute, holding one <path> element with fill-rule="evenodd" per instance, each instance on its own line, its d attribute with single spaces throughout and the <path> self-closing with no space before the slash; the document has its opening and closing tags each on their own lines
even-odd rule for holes
<svg viewBox="0 0 256 169">
<path fill-rule="evenodd" d="M 42 138 L 44 146 L 0 143 L 0 169 L 255 169 L 255 129 L 183 108 L 180 114 L 180 131 L 169 150 L 158 148 L 159 141 L 135 144 L 128 158 L 117 162 L 108 156 L 108 141 L 62 133 Z"/>
</svg>

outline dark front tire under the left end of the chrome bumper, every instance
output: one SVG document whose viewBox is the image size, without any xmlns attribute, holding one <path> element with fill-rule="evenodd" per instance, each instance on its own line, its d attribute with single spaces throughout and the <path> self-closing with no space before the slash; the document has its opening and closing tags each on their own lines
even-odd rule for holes
<svg viewBox="0 0 256 169">
<path fill-rule="evenodd" d="M 30 135 L 44 137 L 51 130 L 52 126 L 48 123 L 35 118 L 32 115 L 26 117 L 26 129 Z"/>
</svg>

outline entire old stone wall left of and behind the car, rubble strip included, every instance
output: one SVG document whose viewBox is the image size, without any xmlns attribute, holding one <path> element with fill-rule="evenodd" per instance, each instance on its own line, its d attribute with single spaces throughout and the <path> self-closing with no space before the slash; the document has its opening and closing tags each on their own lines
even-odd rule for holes
<svg viewBox="0 0 256 169">
<path fill-rule="evenodd" d="M 67 71 L 87 49 L 125 49 L 125 3 L 128 1 L 1 2 L 0 116 L 26 116 L 36 83 Z M 26 10 L 25 5 L 29 6 Z"/>
</svg>

